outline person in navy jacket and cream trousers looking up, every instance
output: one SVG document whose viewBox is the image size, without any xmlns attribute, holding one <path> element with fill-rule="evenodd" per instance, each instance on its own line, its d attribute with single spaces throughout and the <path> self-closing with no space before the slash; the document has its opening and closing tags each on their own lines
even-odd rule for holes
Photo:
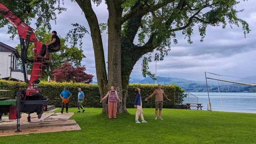
<svg viewBox="0 0 256 144">
<path fill-rule="evenodd" d="M 135 97 L 135 100 L 134 100 L 134 107 L 137 108 L 135 121 L 136 121 L 136 123 L 140 123 L 140 121 L 139 121 L 139 116 L 140 116 L 140 118 L 142 120 L 142 123 L 147 123 L 147 121 L 145 121 L 144 117 L 143 117 L 140 88 L 136 88 L 135 92 L 136 92 L 136 97 Z"/>
</svg>

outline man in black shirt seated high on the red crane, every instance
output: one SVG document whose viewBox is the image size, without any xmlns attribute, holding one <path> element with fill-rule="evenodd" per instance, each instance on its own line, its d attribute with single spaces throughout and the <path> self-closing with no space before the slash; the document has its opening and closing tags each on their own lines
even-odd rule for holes
<svg viewBox="0 0 256 144">
<path fill-rule="evenodd" d="M 45 52 L 46 46 L 48 47 L 48 50 L 52 50 L 59 44 L 61 44 L 61 41 L 59 40 L 59 37 L 57 36 L 57 32 L 52 31 L 52 41 L 50 41 L 49 43 L 46 42 L 46 44 L 43 44 L 39 55 L 36 55 L 36 56 L 44 56 L 46 54 L 46 52 Z"/>
</svg>

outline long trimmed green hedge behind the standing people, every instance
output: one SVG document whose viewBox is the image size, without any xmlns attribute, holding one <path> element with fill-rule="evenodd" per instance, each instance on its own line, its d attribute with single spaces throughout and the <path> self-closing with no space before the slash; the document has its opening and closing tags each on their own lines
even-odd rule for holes
<svg viewBox="0 0 256 144">
<path fill-rule="evenodd" d="M 59 94 L 63 90 L 63 87 L 67 86 L 67 90 L 72 93 L 72 97 L 70 98 L 69 105 L 70 107 L 77 106 L 77 95 L 78 88 L 81 88 L 85 94 L 85 102 L 83 105 L 85 107 L 95 107 L 101 108 L 102 103 L 100 102 L 100 93 L 98 85 L 96 84 L 84 84 L 84 83 L 73 83 L 73 82 L 45 82 L 42 81 L 39 84 L 39 87 L 42 89 L 43 95 L 49 98 L 48 105 L 55 105 L 56 107 L 61 106 L 61 99 Z M 6 80 L 0 80 L 0 89 L 11 89 L 13 90 L 11 95 L 14 96 L 15 91 L 19 88 L 26 88 L 26 83 L 22 82 L 9 82 Z M 152 92 L 157 88 L 157 85 L 149 85 L 149 84 L 131 84 L 128 88 L 128 95 L 126 100 L 126 107 L 133 108 L 134 106 L 134 98 L 135 93 L 134 90 L 136 87 L 141 89 L 142 99 L 144 100 L 148 97 Z M 175 102 L 177 101 L 177 94 L 182 93 L 183 89 L 177 85 L 164 85 L 162 87 L 165 91 L 165 94 L 171 99 L 171 102 L 167 101 L 164 98 L 164 108 L 174 108 Z M 143 102 L 144 108 L 154 108 L 154 97 L 149 99 L 147 102 Z"/>
</svg>

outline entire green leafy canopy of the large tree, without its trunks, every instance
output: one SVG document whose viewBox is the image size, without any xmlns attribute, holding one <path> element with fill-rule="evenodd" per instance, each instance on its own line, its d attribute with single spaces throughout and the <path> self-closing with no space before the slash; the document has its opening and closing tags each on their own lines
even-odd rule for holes
<svg viewBox="0 0 256 144">
<path fill-rule="evenodd" d="M 72 0 L 72 2 L 85 3 L 88 0 Z M 243 10 L 236 9 L 240 0 L 116 0 L 121 2 L 122 18 L 119 23 L 122 24 L 122 38 L 130 36 L 129 30 L 133 30 L 137 37 L 130 36 L 129 42 L 138 41 L 134 44 L 136 47 L 137 57 L 143 59 L 143 76 L 149 75 L 154 77 L 148 69 L 148 62 L 151 61 L 151 55 L 154 49 L 157 53 L 154 55 L 155 61 L 162 61 L 171 50 L 171 44 L 177 44 L 176 32 L 181 31 L 184 38 L 189 44 L 192 44 L 192 35 L 194 30 L 198 29 L 201 41 L 206 36 L 207 26 L 221 26 L 223 29 L 227 25 L 241 26 L 244 35 L 250 32 L 248 23 L 238 18 L 238 13 Z M 245 0 L 243 0 L 245 1 Z M 44 26 L 50 29 L 50 20 L 56 20 L 56 13 L 66 11 L 61 7 L 61 0 L 21 0 L 10 1 L 2 0 L 18 17 L 30 24 L 32 19 L 37 19 L 36 25 Z M 97 6 L 102 0 L 92 0 Z M 137 20 L 135 20 L 137 18 Z M 129 24 L 139 23 L 139 27 L 133 27 Z M 0 27 L 8 24 L 3 17 L 0 17 Z M 73 38 L 71 43 L 76 45 L 79 39 L 82 39 L 85 33 L 89 33 L 84 26 L 73 24 L 76 30 L 71 30 L 67 38 Z M 15 30 L 11 25 L 9 32 Z M 101 31 L 107 29 L 104 23 L 99 24 Z M 80 45 L 81 47 L 81 45 Z M 130 49 L 130 48 L 126 48 Z M 123 49 L 123 50 L 126 50 Z M 129 51 L 127 51 L 129 52 Z M 126 55 L 122 55 L 125 57 Z M 124 60 L 126 58 L 123 58 Z M 127 58 L 128 59 L 128 58 Z M 137 61 L 138 59 L 136 59 Z M 128 62 L 122 62 L 128 63 Z M 132 66 L 134 64 L 131 64 Z M 123 65 L 123 67 L 127 67 Z"/>
</svg>

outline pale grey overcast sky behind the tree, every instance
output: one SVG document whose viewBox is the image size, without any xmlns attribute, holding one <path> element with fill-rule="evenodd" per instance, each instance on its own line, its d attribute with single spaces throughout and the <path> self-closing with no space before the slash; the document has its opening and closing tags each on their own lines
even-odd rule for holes
<svg viewBox="0 0 256 144">
<path fill-rule="evenodd" d="M 72 29 L 72 23 L 79 23 L 90 30 L 84 14 L 82 14 L 82 10 L 77 3 L 65 0 L 64 7 L 67 8 L 67 11 L 57 16 L 56 25 L 52 21 L 52 30 L 56 30 L 58 35 L 63 38 Z M 99 23 L 107 23 L 108 11 L 105 3 L 103 2 L 98 7 L 93 6 L 93 8 Z M 233 29 L 229 26 L 226 29 L 207 27 L 204 42 L 200 42 L 200 36 L 197 29 L 195 29 L 192 38 L 193 44 L 188 44 L 184 36 L 181 33 L 177 33 L 178 44 L 172 45 L 171 51 L 164 61 L 157 62 L 157 76 L 204 80 L 204 71 L 232 76 L 256 75 L 255 8 L 255 0 L 241 2 L 237 6 L 237 9 L 244 9 L 244 12 L 241 12 L 239 17 L 246 20 L 250 25 L 251 32 L 247 34 L 246 38 L 244 38 L 241 27 L 235 26 Z M 31 27 L 35 28 L 34 22 L 32 22 Z M 19 40 L 10 40 L 6 32 L 7 27 L 0 29 L 0 41 L 15 47 Z M 102 41 L 107 62 L 108 38 L 105 33 L 102 34 Z M 87 67 L 87 73 L 96 75 L 91 37 L 86 35 L 83 43 L 82 49 L 87 58 L 82 60 L 82 65 Z M 135 65 L 131 78 L 143 79 L 141 61 L 140 59 Z M 154 61 L 149 64 L 149 68 L 155 73 Z"/>
</svg>

